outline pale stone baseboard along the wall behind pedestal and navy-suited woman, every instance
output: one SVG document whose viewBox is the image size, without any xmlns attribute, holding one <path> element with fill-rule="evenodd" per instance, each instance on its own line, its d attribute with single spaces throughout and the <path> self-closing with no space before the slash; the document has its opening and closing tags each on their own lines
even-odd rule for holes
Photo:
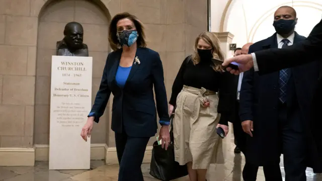
<svg viewBox="0 0 322 181">
<path fill-rule="evenodd" d="M 147 146 L 143 163 L 151 162 L 152 146 Z M 91 144 L 91 160 L 103 160 L 106 164 L 118 164 L 115 147 L 106 144 Z M 34 148 L 0 148 L 0 166 L 34 166 L 35 161 L 49 160 L 49 145 L 34 145 Z"/>
</svg>

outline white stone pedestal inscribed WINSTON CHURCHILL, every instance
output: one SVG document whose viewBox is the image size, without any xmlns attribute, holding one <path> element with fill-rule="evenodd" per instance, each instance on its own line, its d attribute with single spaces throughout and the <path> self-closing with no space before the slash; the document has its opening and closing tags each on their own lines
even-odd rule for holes
<svg viewBox="0 0 322 181">
<path fill-rule="evenodd" d="M 90 169 L 81 129 L 92 104 L 92 57 L 52 56 L 49 169 Z"/>
</svg>

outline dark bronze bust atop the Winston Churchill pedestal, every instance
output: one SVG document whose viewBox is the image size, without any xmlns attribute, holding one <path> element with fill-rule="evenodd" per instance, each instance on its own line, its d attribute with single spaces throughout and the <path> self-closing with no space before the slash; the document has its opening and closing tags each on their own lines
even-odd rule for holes
<svg viewBox="0 0 322 181">
<path fill-rule="evenodd" d="M 56 55 L 89 56 L 89 49 L 83 43 L 83 26 L 77 22 L 69 22 L 64 29 L 64 38 L 56 44 Z"/>
</svg>

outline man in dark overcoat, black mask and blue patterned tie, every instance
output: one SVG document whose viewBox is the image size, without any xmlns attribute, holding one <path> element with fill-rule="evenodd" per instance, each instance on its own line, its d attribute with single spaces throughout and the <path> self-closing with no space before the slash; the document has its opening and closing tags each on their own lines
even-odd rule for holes
<svg viewBox="0 0 322 181">
<path fill-rule="evenodd" d="M 293 8 L 283 6 L 274 14 L 276 33 L 255 43 L 249 53 L 270 48 L 286 48 L 305 37 L 294 32 L 297 22 Z M 282 180 L 280 155 L 284 155 L 286 180 L 306 180 L 308 137 L 312 93 L 319 76 L 318 62 L 282 69 L 260 76 L 254 69 L 245 72 L 240 91 L 240 119 L 250 137 L 246 158 L 264 166 L 266 180 Z M 270 173 L 265 166 L 270 165 Z M 278 169 L 277 169 L 278 168 Z"/>
</svg>

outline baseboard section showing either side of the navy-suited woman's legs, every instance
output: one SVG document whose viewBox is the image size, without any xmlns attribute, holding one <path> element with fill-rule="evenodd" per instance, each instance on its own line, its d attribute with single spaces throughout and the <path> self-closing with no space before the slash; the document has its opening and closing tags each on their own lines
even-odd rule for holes
<svg viewBox="0 0 322 181">
<path fill-rule="evenodd" d="M 150 163 L 151 162 L 152 148 L 153 148 L 152 146 L 146 147 L 144 157 L 143 157 L 143 163 Z M 106 162 L 106 164 L 118 164 L 119 163 L 117 160 L 117 153 L 116 153 L 115 147 L 107 148 L 105 162 Z"/>
</svg>

